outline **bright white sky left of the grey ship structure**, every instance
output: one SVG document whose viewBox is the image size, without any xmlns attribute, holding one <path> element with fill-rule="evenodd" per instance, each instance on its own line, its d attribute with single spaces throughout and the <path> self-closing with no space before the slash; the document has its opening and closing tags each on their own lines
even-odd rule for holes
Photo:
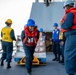
<svg viewBox="0 0 76 75">
<path fill-rule="evenodd" d="M 15 35 L 21 35 L 21 31 L 30 17 L 33 2 L 35 0 L 0 0 L 0 32 L 6 26 L 5 21 L 10 18 L 13 21 L 12 28 Z"/>
</svg>

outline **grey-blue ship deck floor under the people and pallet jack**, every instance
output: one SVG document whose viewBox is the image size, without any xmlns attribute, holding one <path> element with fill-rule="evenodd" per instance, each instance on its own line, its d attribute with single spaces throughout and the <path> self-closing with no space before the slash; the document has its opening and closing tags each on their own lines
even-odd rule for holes
<svg viewBox="0 0 76 75">
<path fill-rule="evenodd" d="M 52 59 L 53 54 L 51 52 L 47 53 L 47 65 L 33 66 L 32 75 L 67 75 L 64 65 L 57 61 L 52 61 Z M 12 60 L 12 68 L 6 69 L 6 64 L 5 62 L 4 67 L 0 67 L 0 75 L 26 75 L 25 66 L 17 65 Z"/>
</svg>

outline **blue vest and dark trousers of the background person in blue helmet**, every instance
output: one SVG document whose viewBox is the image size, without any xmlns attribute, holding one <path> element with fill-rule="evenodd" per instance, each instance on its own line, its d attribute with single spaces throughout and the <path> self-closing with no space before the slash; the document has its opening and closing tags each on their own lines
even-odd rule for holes
<svg viewBox="0 0 76 75">
<path fill-rule="evenodd" d="M 52 32 L 52 40 L 53 40 L 52 50 L 55 55 L 55 59 L 58 60 L 60 60 L 59 33 L 60 33 L 59 29 L 53 30 Z"/>
</svg>

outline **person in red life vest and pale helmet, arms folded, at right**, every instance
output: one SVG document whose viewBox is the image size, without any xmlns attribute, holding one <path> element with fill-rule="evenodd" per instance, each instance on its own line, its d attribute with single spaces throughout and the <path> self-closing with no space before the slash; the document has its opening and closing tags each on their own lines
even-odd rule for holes
<svg viewBox="0 0 76 75">
<path fill-rule="evenodd" d="M 71 0 L 64 3 L 65 15 L 61 21 L 62 32 L 66 37 L 64 62 L 68 75 L 76 74 L 76 7 Z"/>
</svg>

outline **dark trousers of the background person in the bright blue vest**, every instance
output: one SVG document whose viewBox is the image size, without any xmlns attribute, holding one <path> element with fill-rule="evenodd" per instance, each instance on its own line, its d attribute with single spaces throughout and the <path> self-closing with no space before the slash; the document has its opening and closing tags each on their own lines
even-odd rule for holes
<svg viewBox="0 0 76 75">
<path fill-rule="evenodd" d="M 55 55 L 55 58 L 60 59 L 60 44 L 59 43 L 53 43 L 52 50 Z"/>
</svg>

